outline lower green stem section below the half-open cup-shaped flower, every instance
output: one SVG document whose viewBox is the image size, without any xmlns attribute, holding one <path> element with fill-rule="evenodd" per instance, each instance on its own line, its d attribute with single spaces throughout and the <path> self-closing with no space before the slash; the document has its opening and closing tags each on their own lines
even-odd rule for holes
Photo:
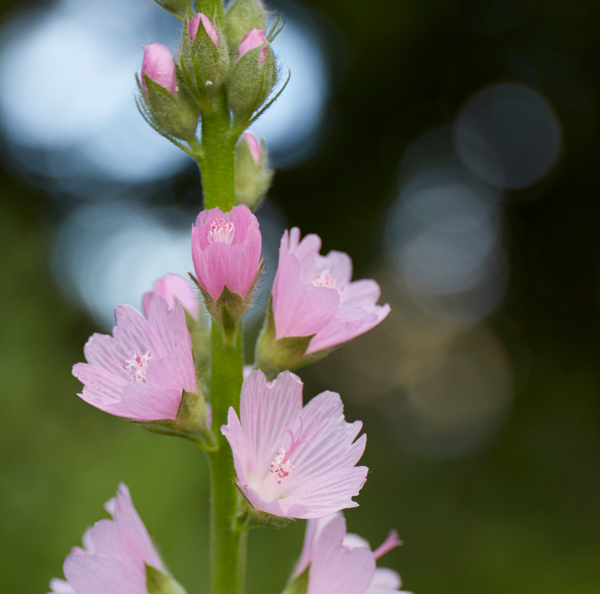
<svg viewBox="0 0 600 594">
<path fill-rule="evenodd" d="M 233 341 L 223 326 L 212 321 L 211 404 L 217 450 L 209 453 L 211 467 L 210 555 L 211 593 L 241 594 L 245 582 L 245 535 L 236 526 L 239 492 L 229 443 L 221 433 L 230 406 L 239 414 L 242 388 L 242 325 L 236 323 Z"/>
</svg>

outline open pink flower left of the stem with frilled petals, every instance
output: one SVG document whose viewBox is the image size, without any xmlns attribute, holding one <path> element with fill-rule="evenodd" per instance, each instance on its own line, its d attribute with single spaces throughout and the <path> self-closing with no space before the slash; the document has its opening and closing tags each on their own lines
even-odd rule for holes
<svg viewBox="0 0 600 594">
<path fill-rule="evenodd" d="M 83 347 L 87 363 L 73 365 L 73 375 L 83 383 L 79 396 L 111 415 L 174 420 L 182 390 L 196 392 L 184 310 L 179 303 L 169 310 L 155 294 L 144 313 L 119 305 L 113 335 L 93 334 Z"/>
</svg>

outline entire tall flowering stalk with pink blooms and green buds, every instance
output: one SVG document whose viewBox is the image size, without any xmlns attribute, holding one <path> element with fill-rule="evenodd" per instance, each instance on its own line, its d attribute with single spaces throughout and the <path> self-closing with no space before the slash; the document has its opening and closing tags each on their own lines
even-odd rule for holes
<svg viewBox="0 0 600 594">
<path fill-rule="evenodd" d="M 252 210 L 272 180 L 264 141 L 247 128 L 278 97 L 271 42 L 280 18 L 262 0 L 156 0 L 182 21 L 176 55 L 145 47 L 137 105 L 155 131 L 200 167 L 205 210 L 191 229 L 194 271 L 167 274 L 142 312 L 115 309 L 112 335 L 94 334 L 74 365 L 83 400 L 104 412 L 185 437 L 208 456 L 212 594 L 241 594 L 245 541 L 254 526 L 308 520 L 286 594 L 398 592 L 400 577 L 376 560 L 400 544 L 395 532 L 371 551 L 346 534 L 341 510 L 368 469 L 367 437 L 348 422 L 335 392 L 303 402 L 289 370 L 367 332 L 387 316 L 373 280 L 352 281 L 352 260 L 320 254 L 317 235 L 281 238 L 254 371 L 243 380 L 242 320 L 260 275 L 262 237 Z M 200 135 L 198 131 L 200 130 Z M 252 367 L 252 366 L 250 366 Z M 182 594 L 131 503 L 127 487 L 107 505 L 64 564 L 64 594 Z M 292 556 L 292 555 L 290 555 Z"/>
</svg>

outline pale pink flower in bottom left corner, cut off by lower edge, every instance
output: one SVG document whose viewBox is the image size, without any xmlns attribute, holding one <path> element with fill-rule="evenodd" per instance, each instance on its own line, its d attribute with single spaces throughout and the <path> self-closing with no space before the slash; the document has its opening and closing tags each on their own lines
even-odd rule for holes
<svg viewBox="0 0 600 594">
<path fill-rule="evenodd" d="M 126 485 L 106 502 L 112 520 L 100 520 L 73 547 L 62 570 L 67 580 L 50 581 L 61 594 L 148 594 L 146 565 L 165 572 Z"/>
</svg>

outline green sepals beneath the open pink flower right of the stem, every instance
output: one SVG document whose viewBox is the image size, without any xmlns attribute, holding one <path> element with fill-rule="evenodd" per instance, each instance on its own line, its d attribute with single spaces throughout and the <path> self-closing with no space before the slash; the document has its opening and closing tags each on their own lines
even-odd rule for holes
<svg viewBox="0 0 600 594">
<path fill-rule="evenodd" d="M 256 342 L 255 353 L 256 368 L 260 369 L 267 379 L 273 379 L 278 373 L 286 369 L 294 370 L 319 361 L 331 352 L 330 349 L 305 355 L 314 334 L 280 338 L 279 340 L 275 336 L 273 297 L 271 296 L 265 314 L 265 323 L 260 332 L 259 340 Z"/>
</svg>

